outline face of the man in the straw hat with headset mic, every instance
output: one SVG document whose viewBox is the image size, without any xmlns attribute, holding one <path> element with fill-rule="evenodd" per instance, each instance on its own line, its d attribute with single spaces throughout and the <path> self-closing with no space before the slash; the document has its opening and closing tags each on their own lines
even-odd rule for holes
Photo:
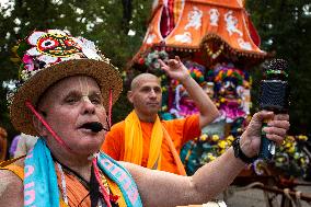
<svg viewBox="0 0 311 207">
<path fill-rule="evenodd" d="M 84 125 L 99 122 L 107 128 L 103 102 L 100 88 L 94 79 L 76 76 L 60 80 L 48 89 L 38 108 L 44 112 L 51 129 L 72 152 L 90 154 L 99 151 L 105 131 L 94 133 Z M 41 134 L 47 137 L 49 148 L 59 148 L 59 143 L 49 131 L 43 128 Z"/>
</svg>

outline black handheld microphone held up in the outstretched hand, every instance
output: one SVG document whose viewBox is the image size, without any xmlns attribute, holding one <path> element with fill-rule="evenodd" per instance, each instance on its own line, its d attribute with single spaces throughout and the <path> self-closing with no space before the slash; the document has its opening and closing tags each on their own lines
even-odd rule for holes
<svg viewBox="0 0 311 207">
<path fill-rule="evenodd" d="M 264 80 L 261 82 L 260 108 L 273 111 L 275 114 L 286 113 L 289 107 L 287 62 L 284 59 L 273 59 L 266 67 Z M 268 120 L 264 120 L 263 128 Z M 262 131 L 262 143 L 258 157 L 269 160 L 275 154 L 275 143 Z"/>
</svg>

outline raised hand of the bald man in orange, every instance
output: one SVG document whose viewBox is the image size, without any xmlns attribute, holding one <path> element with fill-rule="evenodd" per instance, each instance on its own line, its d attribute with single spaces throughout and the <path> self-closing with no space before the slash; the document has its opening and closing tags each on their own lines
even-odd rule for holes
<svg viewBox="0 0 311 207">
<path fill-rule="evenodd" d="M 175 56 L 175 59 L 169 59 L 166 62 L 158 59 L 161 68 L 173 79 L 176 79 L 181 82 L 186 80 L 189 77 L 187 68 L 183 65 L 178 56 Z"/>
</svg>

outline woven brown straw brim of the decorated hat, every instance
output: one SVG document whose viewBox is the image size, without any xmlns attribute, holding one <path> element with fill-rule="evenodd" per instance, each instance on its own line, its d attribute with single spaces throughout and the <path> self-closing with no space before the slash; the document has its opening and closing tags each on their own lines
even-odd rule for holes
<svg viewBox="0 0 311 207">
<path fill-rule="evenodd" d="M 96 80 L 106 110 L 108 108 L 110 89 L 113 90 L 113 104 L 117 101 L 123 89 L 123 81 L 114 66 L 92 59 L 64 61 L 35 73 L 14 94 L 10 105 L 10 117 L 15 129 L 27 135 L 37 136 L 37 131 L 33 126 L 33 114 L 25 106 L 25 101 L 28 100 L 36 106 L 38 99 L 50 85 L 66 77 L 79 74 L 92 77 Z"/>
</svg>

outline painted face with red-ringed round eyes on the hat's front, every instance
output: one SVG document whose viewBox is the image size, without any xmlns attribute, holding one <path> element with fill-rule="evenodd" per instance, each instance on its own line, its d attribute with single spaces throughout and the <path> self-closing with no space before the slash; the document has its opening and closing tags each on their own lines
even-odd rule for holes
<svg viewBox="0 0 311 207">
<path fill-rule="evenodd" d="M 81 51 L 72 37 L 47 33 L 37 41 L 37 50 L 53 57 L 69 57 Z"/>
</svg>

